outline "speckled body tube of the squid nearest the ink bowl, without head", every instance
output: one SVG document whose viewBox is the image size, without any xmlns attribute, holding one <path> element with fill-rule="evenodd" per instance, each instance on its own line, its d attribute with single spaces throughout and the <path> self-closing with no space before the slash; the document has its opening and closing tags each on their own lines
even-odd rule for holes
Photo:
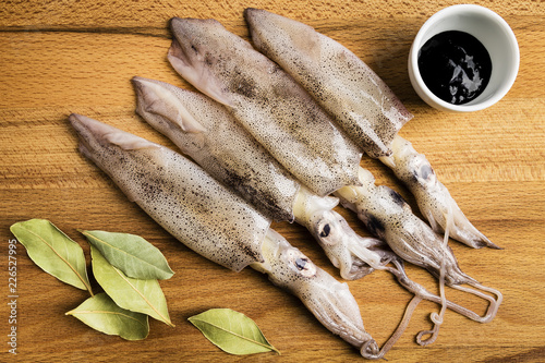
<svg viewBox="0 0 545 363">
<path fill-rule="evenodd" d="M 259 9 L 244 15 L 254 46 L 293 76 L 368 156 L 390 144 L 412 114 L 360 58 L 336 40 Z"/>
</svg>

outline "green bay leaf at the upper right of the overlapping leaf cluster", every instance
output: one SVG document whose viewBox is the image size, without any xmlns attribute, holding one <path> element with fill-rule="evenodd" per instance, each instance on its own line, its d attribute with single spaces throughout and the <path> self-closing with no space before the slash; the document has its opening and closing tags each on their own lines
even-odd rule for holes
<svg viewBox="0 0 545 363">
<path fill-rule="evenodd" d="M 162 253 L 140 235 L 81 231 L 102 256 L 135 279 L 169 279 L 174 274 Z"/>
</svg>

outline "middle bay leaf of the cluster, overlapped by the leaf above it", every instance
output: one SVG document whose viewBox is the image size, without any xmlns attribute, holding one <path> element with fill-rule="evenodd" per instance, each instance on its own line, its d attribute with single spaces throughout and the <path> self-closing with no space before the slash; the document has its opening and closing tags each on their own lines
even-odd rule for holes
<svg viewBox="0 0 545 363">
<path fill-rule="evenodd" d="M 100 251 L 90 245 L 93 273 L 97 282 L 118 306 L 149 315 L 170 326 L 167 300 L 155 279 L 134 279 L 110 265 Z"/>
</svg>

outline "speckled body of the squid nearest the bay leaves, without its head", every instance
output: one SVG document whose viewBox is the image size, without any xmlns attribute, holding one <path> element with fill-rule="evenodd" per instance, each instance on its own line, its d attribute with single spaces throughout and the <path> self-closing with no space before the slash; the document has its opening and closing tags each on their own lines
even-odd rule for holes
<svg viewBox="0 0 545 363">
<path fill-rule="evenodd" d="M 202 256 L 240 271 L 263 262 L 270 220 L 183 156 L 80 114 L 80 150 L 129 198 Z"/>
</svg>

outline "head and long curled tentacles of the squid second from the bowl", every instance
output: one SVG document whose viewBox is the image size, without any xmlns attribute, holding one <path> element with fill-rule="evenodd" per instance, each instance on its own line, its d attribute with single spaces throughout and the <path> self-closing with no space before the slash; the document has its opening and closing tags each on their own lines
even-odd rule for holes
<svg viewBox="0 0 545 363">
<path fill-rule="evenodd" d="M 501 293 L 482 286 L 460 269 L 452 251 L 446 243 L 448 234 L 445 234 L 441 240 L 429 226 L 411 213 L 410 206 L 398 193 L 386 186 L 375 186 L 373 176 L 365 169 L 360 169 L 360 181 L 363 186 L 346 186 L 337 191 L 336 195 L 340 197 L 342 205 L 358 214 L 372 233 L 386 241 L 399 257 L 424 267 L 438 277 L 440 286 L 446 283 L 455 289 L 471 292 L 487 300 L 489 305 L 486 314 L 481 317 L 446 300 L 444 292 L 440 298 L 433 295 L 420 286 L 413 285 L 414 282 L 407 278 L 404 270 L 400 267 L 400 262 L 393 259 L 398 268 L 389 269 L 389 271 L 397 276 L 398 281 L 409 291 L 421 294 L 423 299 L 437 302 L 473 320 L 481 323 L 492 320 L 501 303 Z M 464 283 L 492 292 L 496 299 L 481 291 L 460 287 Z M 440 323 L 441 319 L 434 315 L 434 320 Z"/>
</svg>

